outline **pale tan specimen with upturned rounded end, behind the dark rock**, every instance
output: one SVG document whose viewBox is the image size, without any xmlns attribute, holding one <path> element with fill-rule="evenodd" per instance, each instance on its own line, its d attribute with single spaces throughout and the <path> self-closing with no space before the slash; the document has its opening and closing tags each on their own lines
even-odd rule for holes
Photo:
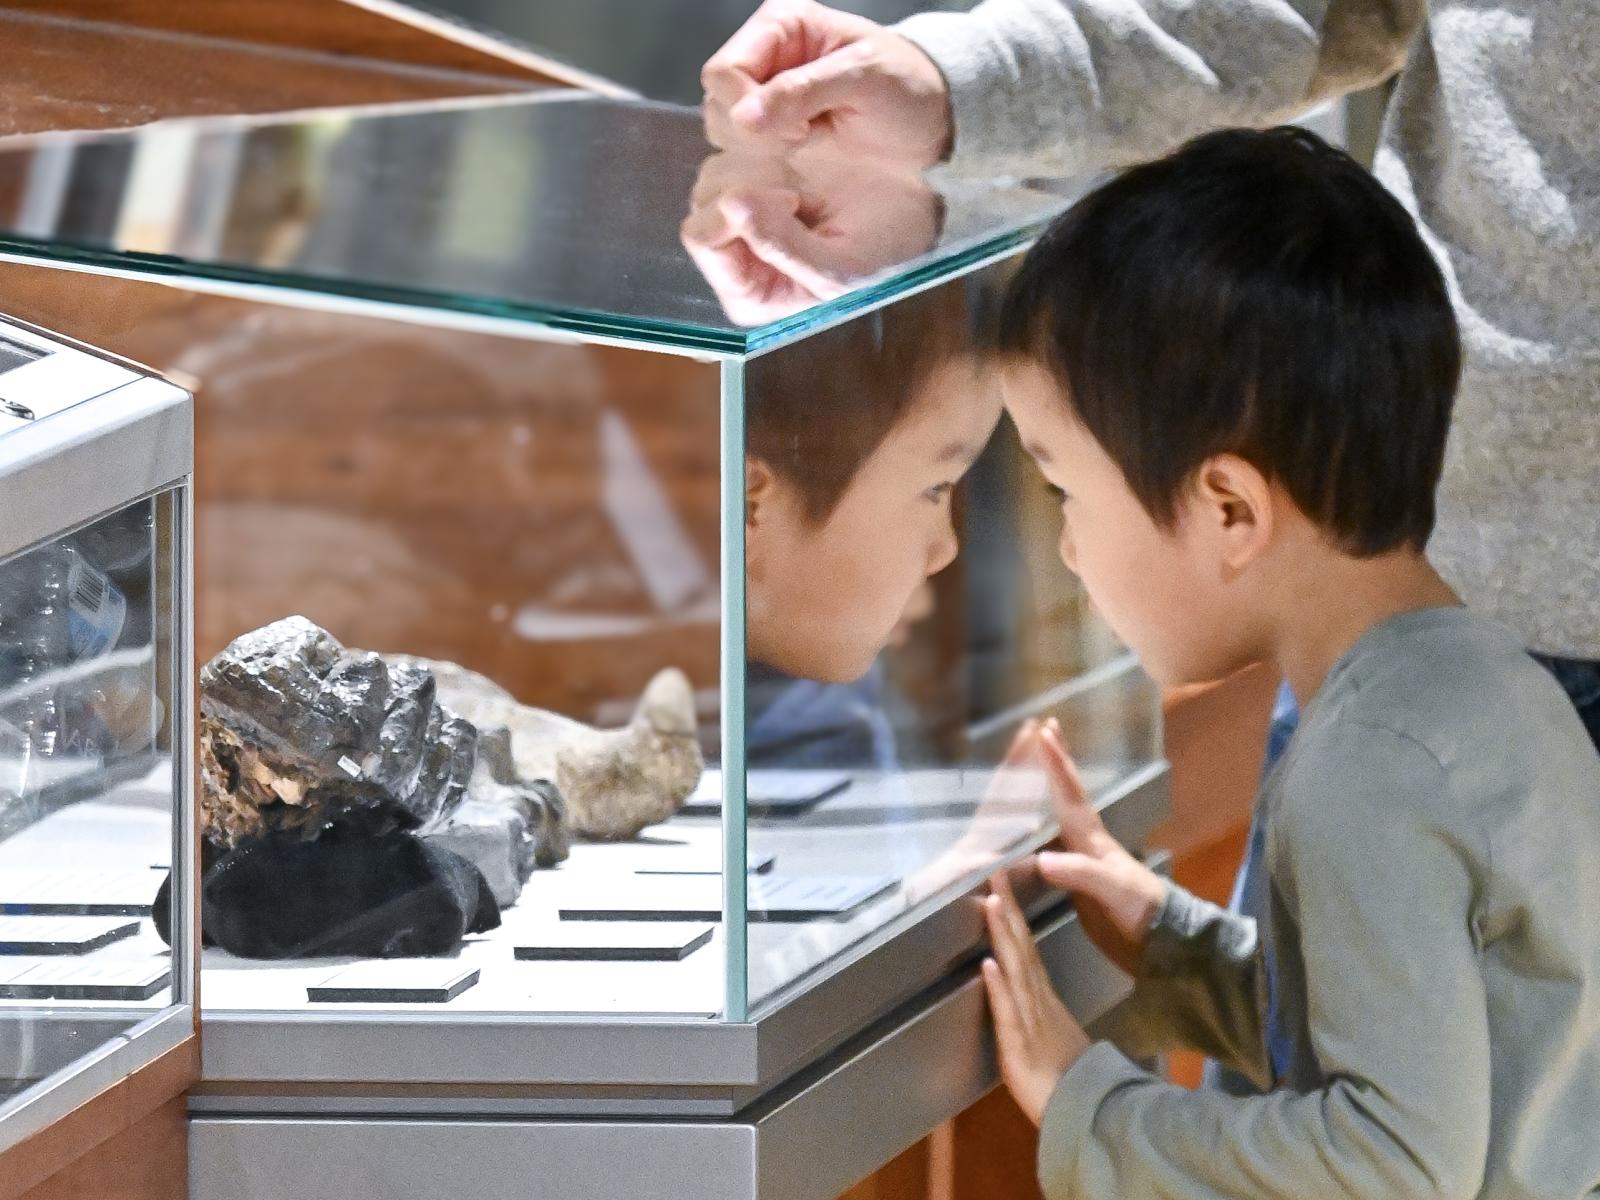
<svg viewBox="0 0 1600 1200">
<path fill-rule="evenodd" d="M 442 704 L 480 728 L 509 730 L 515 778 L 554 781 L 579 837 L 598 842 L 637 837 L 677 813 L 704 770 L 694 693 L 682 670 L 659 672 L 621 730 L 595 730 L 520 704 L 499 685 L 453 662 L 411 658 L 389 662 L 429 669 Z"/>
</svg>

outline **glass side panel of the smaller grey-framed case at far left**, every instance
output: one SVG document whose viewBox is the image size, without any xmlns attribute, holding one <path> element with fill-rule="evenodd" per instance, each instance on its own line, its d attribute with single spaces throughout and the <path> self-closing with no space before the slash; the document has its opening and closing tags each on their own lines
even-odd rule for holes
<svg viewBox="0 0 1600 1200">
<path fill-rule="evenodd" d="M 176 494 L 0 563 L 0 1091 L 173 1002 Z"/>
</svg>

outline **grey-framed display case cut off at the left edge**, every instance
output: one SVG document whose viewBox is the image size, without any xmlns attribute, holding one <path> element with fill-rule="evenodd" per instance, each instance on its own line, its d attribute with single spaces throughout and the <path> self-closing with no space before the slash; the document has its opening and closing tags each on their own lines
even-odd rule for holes
<svg viewBox="0 0 1600 1200">
<path fill-rule="evenodd" d="M 190 421 L 0 318 L 0 1149 L 194 1032 Z"/>
</svg>

